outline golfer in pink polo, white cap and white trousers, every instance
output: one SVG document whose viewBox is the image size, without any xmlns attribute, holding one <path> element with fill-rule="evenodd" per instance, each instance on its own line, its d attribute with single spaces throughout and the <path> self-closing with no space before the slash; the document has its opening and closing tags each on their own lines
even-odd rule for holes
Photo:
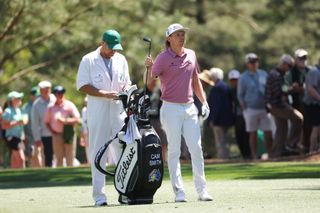
<svg viewBox="0 0 320 213">
<path fill-rule="evenodd" d="M 160 121 L 167 134 L 168 167 L 175 202 L 186 202 L 180 169 L 181 135 L 184 136 L 191 154 L 195 187 L 201 201 L 211 201 L 206 189 L 204 161 L 201 148 L 201 133 L 198 110 L 194 105 L 193 93 L 202 103 L 202 114 L 209 115 L 205 93 L 199 80 L 199 66 L 195 52 L 184 48 L 185 32 L 188 28 L 171 24 L 166 31 L 166 49 L 153 62 L 151 57 L 145 61 L 151 68 L 148 82 L 159 77 L 161 82 Z"/>
</svg>

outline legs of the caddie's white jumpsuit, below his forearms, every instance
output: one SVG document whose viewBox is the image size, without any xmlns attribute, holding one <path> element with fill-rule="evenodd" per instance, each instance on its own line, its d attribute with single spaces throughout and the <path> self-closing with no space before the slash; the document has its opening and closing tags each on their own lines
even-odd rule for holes
<svg viewBox="0 0 320 213">
<path fill-rule="evenodd" d="M 93 200 L 95 202 L 105 202 L 105 179 L 94 165 L 94 159 L 99 149 L 110 139 L 112 139 L 121 129 L 123 118 L 120 116 L 118 104 L 108 99 L 93 98 L 88 100 L 88 128 L 89 128 L 89 157 L 91 162 L 91 175 L 93 186 Z M 125 115 L 124 115 L 125 116 Z M 117 140 L 117 139 L 116 139 Z M 100 165 L 104 169 L 106 163 L 116 164 L 121 155 L 121 145 L 114 141 L 103 155 Z M 107 177 L 109 178 L 109 177 Z"/>
</svg>

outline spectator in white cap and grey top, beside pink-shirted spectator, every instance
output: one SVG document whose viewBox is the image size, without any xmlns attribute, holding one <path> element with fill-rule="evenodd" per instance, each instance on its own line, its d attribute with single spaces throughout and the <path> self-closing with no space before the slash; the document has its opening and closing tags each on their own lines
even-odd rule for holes
<svg viewBox="0 0 320 213">
<path fill-rule="evenodd" d="M 53 148 L 51 132 L 44 123 L 44 115 L 48 105 L 53 105 L 55 96 L 51 94 L 51 83 L 49 81 L 41 81 L 38 84 L 40 88 L 40 96 L 34 101 L 31 110 L 31 128 L 35 141 L 36 149 L 44 153 L 44 162 L 46 167 L 52 167 Z M 43 162 L 41 162 L 41 166 Z"/>
</svg>

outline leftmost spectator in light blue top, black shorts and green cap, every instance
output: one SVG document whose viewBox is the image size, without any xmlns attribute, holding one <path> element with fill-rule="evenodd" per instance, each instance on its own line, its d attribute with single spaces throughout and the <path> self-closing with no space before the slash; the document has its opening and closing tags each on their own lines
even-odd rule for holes
<svg viewBox="0 0 320 213">
<path fill-rule="evenodd" d="M 9 107 L 4 110 L 1 126 L 6 130 L 6 141 L 11 150 L 11 168 L 25 168 L 23 126 L 28 123 L 28 116 L 20 110 L 23 93 L 12 91 L 8 94 Z"/>
</svg>

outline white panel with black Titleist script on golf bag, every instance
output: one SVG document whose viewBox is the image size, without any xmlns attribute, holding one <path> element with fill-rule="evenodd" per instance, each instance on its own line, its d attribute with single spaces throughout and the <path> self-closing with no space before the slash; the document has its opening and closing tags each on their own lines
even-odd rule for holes
<svg viewBox="0 0 320 213">
<path fill-rule="evenodd" d="M 138 143 L 128 144 L 121 156 L 116 169 L 115 187 L 118 191 L 125 193 L 138 157 L 137 157 Z"/>
</svg>

